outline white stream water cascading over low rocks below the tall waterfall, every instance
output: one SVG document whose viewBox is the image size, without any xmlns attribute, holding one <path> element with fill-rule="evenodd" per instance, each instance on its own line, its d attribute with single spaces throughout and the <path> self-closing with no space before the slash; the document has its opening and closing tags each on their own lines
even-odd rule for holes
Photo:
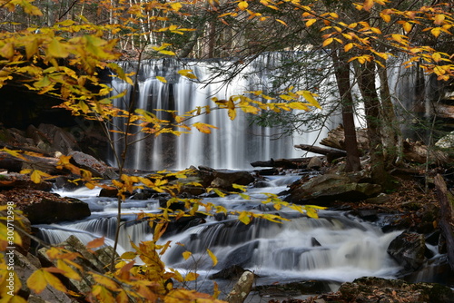
<svg viewBox="0 0 454 303">
<path fill-rule="evenodd" d="M 273 176 L 268 181 L 269 187 L 249 189 L 250 200 L 237 195 L 204 199 L 229 211 L 279 213 L 291 221 L 280 224 L 252 220 L 251 224 L 244 225 L 234 215 L 221 220 L 209 217 L 200 225 L 164 236 L 162 241 L 171 240 L 172 244 L 163 255 L 163 261 L 168 267 L 183 273 L 197 271 L 201 275 L 197 285 L 200 289 L 212 288 L 212 280 L 207 277 L 232 265 L 253 270 L 260 276 L 256 282 L 258 285 L 318 279 L 328 281 L 335 289 L 339 282 L 363 276 L 394 278 L 400 267 L 390 259 L 386 250 L 399 231 L 385 234 L 380 228 L 340 211 L 322 210 L 321 218 L 315 220 L 293 210 L 277 211 L 272 205 L 262 203 L 263 192 L 284 191 L 288 184 L 300 177 Z M 84 243 L 101 236 L 106 237 L 107 244 L 112 243 L 116 201 L 95 197 L 96 191 L 77 193 L 78 199 L 89 203 L 92 216 L 75 223 L 39 226 L 43 239 L 58 243 L 74 234 Z M 61 194 L 71 196 L 72 192 Z M 146 222 L 134 221 L 134 213 L 139 211 L 159 211 L 158 201 L 126 200 L 123 203 L 123 220 L 129 223 L 124 225 L 120 236 L 120 253 L 131 249 L 130 239 L 137 244 L 153 238 Z M 216 255 L 219 263 L 215 267 L 212 267 L 206 249 L 211 249 Z M 185 250 L 192 252 L 192 258 L 183 259 Z"/>
</svg>

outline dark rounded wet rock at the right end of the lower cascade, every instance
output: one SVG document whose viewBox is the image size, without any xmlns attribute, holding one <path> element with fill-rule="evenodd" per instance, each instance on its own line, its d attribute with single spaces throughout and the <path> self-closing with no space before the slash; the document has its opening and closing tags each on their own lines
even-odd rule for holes
<svg viewBox="0 0 454 303">
<path fill-rule="evenodd" d="M 387 251 L 405 269 L 419 269 L 426 260 L 425 238 L 418 233 L 404 231 L 390 242 Z"/>
</svg>

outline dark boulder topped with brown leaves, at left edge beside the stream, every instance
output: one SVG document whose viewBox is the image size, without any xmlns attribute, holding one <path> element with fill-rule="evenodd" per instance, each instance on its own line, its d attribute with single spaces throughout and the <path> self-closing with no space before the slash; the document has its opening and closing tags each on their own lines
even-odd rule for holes
<svg viewBox="0 0 454 303">
<path fill-rule="evenodd" d="M 74 198 L 62 198 L 46 191 L 14 189 L 2 192 L 8 201 L 15 202 L 32 224 L 81 220 L 90 216 L 88 204 Z"/>
</svg>

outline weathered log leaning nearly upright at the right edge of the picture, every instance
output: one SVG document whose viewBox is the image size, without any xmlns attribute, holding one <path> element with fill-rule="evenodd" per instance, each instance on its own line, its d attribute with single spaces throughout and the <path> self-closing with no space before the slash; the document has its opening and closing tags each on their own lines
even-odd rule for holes
<svg viewBox="0 0 454 303">
<path fill-rule="evenodd" d="M 454 197 L 439 174 L 435 176 L 435 186 L 441 212 L 439 227 L 446 239 L 449 267 L 454 270 Z"/>
</svg>

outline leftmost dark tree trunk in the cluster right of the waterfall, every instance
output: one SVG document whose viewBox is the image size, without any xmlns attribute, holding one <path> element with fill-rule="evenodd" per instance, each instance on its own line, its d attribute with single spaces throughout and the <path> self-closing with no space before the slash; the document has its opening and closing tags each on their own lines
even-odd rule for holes
<svg viewBox="0 0 454 303">
<path fill-rule="evenodd" d="M 334 73 L 336 75 L 339 94 L 341 95 L 345 151 L 347 152 L 345 171 L 360 171 L 360 152 L 358 151 L 358 142 L 356 140 L 353 97 L 351 96 L 350 87 L 350 64 L 347 63 L 345 54 L 341 53 L 338 57 L 336 51 L 332 52 L 332 61 L 334 63 Z"/>
</svg>

